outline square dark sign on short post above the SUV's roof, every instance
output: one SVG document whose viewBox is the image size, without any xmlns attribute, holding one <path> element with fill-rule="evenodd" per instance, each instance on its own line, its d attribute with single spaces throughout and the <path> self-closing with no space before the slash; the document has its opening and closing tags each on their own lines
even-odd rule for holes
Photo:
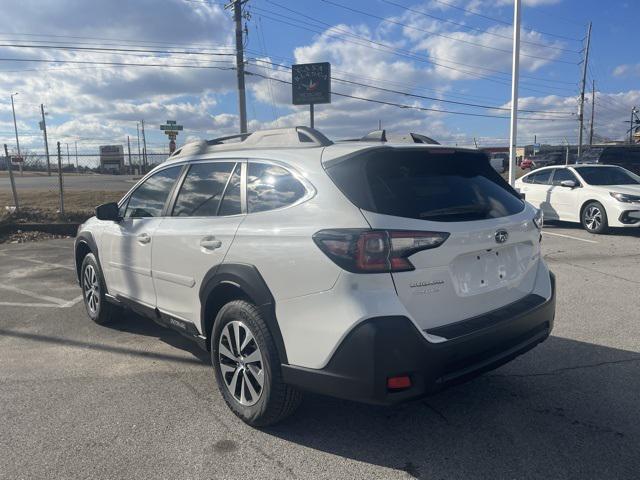
<svg viewBox="0 0 640 480">
<path fill-rule="evenodd" d="M 294 105 L 309 105 L 309 124 L 314 128 L 314 105 L 331 103 L 331 64 L 322 62 L 292 65 L 291 99 Z"/>
</svg>

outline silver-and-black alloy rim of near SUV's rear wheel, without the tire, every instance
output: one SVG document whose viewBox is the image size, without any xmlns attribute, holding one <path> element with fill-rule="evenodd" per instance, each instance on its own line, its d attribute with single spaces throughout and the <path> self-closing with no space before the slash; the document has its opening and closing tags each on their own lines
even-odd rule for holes
<svg viewBox="0 0 640 480">
<path fill-rule="evenodd" d="M 222 378 L 233 398 L 251 406 L 260 399 L 264 385 L 262 352 L 249 327 L 240 321 L 226 324 L 218 342 Z"/>
</svg>

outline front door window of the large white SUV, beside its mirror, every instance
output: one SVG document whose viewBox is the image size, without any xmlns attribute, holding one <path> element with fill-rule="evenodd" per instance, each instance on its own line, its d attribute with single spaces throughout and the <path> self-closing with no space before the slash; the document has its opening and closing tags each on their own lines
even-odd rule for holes
<svg viewBox="0 0 640 480">
<path fill-rule="evenodd" d="M 125 218 L 159 217 L 180 175 L 182 165 L 165 168 L 147 178 L 129 197 Z"/>
</svg>

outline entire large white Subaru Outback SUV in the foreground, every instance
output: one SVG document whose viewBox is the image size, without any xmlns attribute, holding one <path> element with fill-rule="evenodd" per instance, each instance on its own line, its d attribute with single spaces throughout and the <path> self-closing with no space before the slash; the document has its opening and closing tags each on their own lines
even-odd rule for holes
<svg viewBox="0 0 640 480">
<path fill-rule="evenodd" d="M 198 341 L 245 422 L 280 420 L 304 390 L 418 398 L 549 336 L 541 216 L 486 155 L 245 137 L 185 145 L 75 243 L 89 316 L 127 307 Z"/>
</svg>

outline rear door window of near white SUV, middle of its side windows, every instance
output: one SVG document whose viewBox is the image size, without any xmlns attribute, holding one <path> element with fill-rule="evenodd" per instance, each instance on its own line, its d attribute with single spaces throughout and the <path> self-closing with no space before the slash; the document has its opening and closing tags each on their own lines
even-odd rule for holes
<svg viewBox="0 0 640 480">
<path fill-rule="evenodd" d="M 173 207 L 176 217 L 215 217 L 235 162 L 196 163 L 180 187 Z"/>
</svg>

